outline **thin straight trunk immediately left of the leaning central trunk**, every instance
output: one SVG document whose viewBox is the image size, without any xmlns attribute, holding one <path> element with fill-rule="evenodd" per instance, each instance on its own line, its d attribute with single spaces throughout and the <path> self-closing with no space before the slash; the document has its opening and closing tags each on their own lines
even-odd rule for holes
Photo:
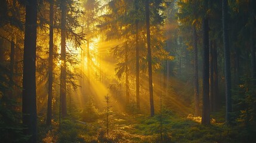
<svg viewBox="0 0 256 143">
<path fill-rule="evenodd" d="M 138 11 L 138 1 L 135 1 L 135 10 Z M 135 45 L 136 45 L 136 104 L 137 108 L 140 109 L 140 55 L 138 49 L 138 19 L 135 20 Z"/>
</svg>

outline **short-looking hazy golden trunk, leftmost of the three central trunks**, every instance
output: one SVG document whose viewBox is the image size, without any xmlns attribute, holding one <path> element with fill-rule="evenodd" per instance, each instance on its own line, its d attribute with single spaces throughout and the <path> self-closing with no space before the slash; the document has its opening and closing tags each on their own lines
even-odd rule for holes
<svg viewBox="0 0 256 143">
<path fill-rule="evenodd" d="M 125 44 L 125 93 L 126 93 L 126 105 L 129 105 L 129 73 L 128 73 L 128 45 Z"/>
</svg>

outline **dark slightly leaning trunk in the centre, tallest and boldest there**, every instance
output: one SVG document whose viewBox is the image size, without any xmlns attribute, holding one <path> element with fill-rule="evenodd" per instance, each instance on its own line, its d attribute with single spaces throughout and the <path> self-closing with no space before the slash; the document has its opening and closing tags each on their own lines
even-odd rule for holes
<svg viewBox="0 0 256 143">
<path fill-rule="evenodd" d="M 145 2 L 146 9 L 146 27 L 147 27 L 147 60 L 149 66 L 149 102 L 150 102 L 150 115 L 155 116 L 154 100 L 153 100 L 153 84 L 152 84 L 152 55 L 150 47 L 150 23 L 149 23 L 149 0 Z"/>
</svg>

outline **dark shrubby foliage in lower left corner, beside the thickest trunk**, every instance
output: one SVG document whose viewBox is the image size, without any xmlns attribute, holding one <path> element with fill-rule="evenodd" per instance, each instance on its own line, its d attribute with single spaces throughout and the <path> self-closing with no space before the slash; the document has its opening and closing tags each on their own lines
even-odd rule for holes
<svg viewBox="0 0 256 143">
<path fill-rule="evenodd" d="M 2 142 L 26 142 L 23 135 L 20 105 L 14 101 L 14 88 L 10 87 L 8 69 L 0 63 L 0 140 Z"/>
</svg>

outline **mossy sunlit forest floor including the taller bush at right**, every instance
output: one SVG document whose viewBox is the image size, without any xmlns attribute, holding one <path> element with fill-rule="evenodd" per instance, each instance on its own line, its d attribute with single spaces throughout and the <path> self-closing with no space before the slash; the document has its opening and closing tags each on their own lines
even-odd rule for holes
<svg viewBox="0 0 256 143">
<path fill-rule="evenodd" d="M 211 125 L 201 125 L 201 117 L 195 117 L 187 107 L 187 95 L 192 89 L 176 90 L 184 83 L 170 85 L 169 97 L 162 101 L 162 114 L 150 117 L 141 113 L 113 113 L 107 120 L 106 114 L 95 113 L 91 120 L 82 122 L 79 112 L 61 120 L 53 120 L 53 125 L 39 123 L 40 142 L 253 142 L 249 128 L 224 125 L 224 110 L 211 116 Z M 175 101 L 175 102 L 174 102 Z M 218 120 L 217 120 L 218 119 Z"/>
</svg>

